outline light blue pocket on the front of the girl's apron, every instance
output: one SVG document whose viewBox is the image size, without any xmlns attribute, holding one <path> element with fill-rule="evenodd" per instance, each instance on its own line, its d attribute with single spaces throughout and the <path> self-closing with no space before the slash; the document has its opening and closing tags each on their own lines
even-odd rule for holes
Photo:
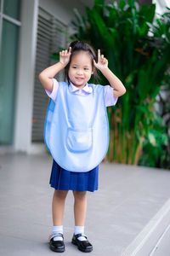
<svg viewBox="0 0 170 256">
<path fill-rule="evenodd" d="M 92 147 L 92 128 L 86 130 L 68 128 L 66 137 L 67 148 L 71 152 L 83 152 Z"/>
</svg>

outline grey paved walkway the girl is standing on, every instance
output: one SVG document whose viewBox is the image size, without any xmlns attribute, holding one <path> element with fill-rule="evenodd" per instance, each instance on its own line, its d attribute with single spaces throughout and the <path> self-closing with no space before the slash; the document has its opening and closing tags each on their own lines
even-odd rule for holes
<svg viewBox="0 0 170 256">
<path fill-rule="evenodd" d="M 48 154 L 0 156 L 0 255 L 54 255 L 48 249 L 51 166 Z M 169 171 L 101 163 L 99 190 L 88 192 L 85 233 L 94 245 L 90 255 L 169 255 L 169 198 Z M 71 244 L 73 228 L 70 191 L 65 204 L 65 256 L 82 255 Z"/>
</svg>

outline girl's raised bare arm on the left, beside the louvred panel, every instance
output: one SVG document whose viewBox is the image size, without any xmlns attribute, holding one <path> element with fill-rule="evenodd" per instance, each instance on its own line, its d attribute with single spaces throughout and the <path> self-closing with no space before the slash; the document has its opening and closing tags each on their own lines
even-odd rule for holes
<svg viewBox="0 0 170 256">
<path fill-rule="evenodd" d="M 59 62 L 47 67 L 46 69 L 42 70 L 41 73 L 39 73 L 39 79 L 42 83 L 43 87 L 50 92 L 53 90 L 53 78 L 54 76 L 59 73 L 65 66 L 68 64 L 71 56 L 71 47 L 69 51 L 67 49 L 62 50 L 59 52 Z"/>
</svg>

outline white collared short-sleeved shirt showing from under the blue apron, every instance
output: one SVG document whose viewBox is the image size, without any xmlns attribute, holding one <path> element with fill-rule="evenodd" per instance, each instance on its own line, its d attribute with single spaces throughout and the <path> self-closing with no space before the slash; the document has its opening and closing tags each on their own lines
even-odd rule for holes
<svg viewBox="0 0 170 256">
<path fill-rule="evenodd" d="M 45 91 L 46 91 L 47 95 L 50 98 L 52 98 L 52 100 L 55 102 L 56 97 L 57 97 L 57 91 L 59 88 L 59 83 L 56 79 L 53 79 L 53 81 L 54 81 L 54 86 L 53 86 L 52 92 L 50 92 L 47 89 L 45 89 Z M 92 87 L 88 86 L 88 84 L 86 84 L 82 88 L 82 90 L 79 90 L 77 88 L 77 86 L 75 86 L 72 83 L 69 84 L 69 90 L 71 90 L 71 92 L 74 92 L 75 94 L 82 94 L 82 95 L 87 95 L 88 93 L 92 93 L 92 91 L 93 91 Z M 105 107 L 116 105 L 118 97 L 113 96 L 113 90 L 114 90 L 114 88 L 111 87 L 111 85 L 105 85 Z"/>
</svg>

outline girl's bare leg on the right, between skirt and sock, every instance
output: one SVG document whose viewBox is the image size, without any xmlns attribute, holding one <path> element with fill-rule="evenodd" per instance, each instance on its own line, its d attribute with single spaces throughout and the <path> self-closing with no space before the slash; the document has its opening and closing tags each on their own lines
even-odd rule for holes
<svg viewBox="0 0 170 256">
<path fill-rule="evenodd" d="M 84 226 L 87 210 L 87 191 L 73 191 L 75 226 Z"/>
</svg>

